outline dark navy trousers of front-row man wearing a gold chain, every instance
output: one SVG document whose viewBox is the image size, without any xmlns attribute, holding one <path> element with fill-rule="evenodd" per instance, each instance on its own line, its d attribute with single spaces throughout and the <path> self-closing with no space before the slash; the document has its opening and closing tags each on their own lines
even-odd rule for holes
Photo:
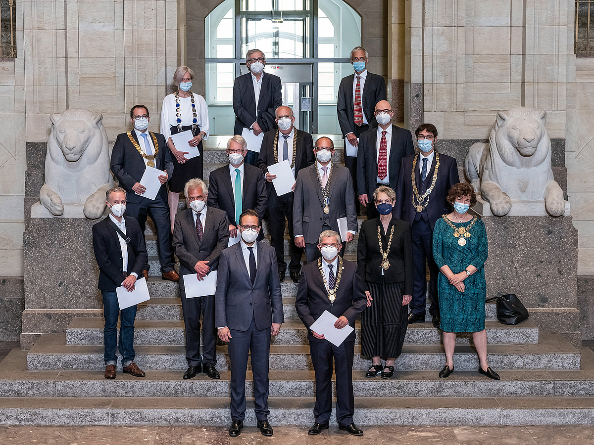
<svg viewBox="0 0 594 445">
<path fill-rule="evenodd" d="M 332 363 L 336 367 L 336 420 L 339 426 L 353 423 L 353 360 L 355 342 L 334 346 L 327 340 L 310 341 L 309 352 L 315 372 L 315 421 L 327 424 L 332 414 Z"/>
</svg>

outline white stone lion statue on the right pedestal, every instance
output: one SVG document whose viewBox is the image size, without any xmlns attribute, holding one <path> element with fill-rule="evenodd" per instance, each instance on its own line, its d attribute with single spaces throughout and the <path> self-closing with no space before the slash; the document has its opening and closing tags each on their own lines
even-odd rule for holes
<svg viewBox="0 0 594 445">
<path fill-rule="evenodd" d="M 487 144 L 466 155 L 466 174 L 491 212 L 507 215 L 512 201 L 541 201 L 554 217 L 563 215 L 563 190 L 553 179 L 546 111 L 516 107 L 497 113 Z"/>
</svg>

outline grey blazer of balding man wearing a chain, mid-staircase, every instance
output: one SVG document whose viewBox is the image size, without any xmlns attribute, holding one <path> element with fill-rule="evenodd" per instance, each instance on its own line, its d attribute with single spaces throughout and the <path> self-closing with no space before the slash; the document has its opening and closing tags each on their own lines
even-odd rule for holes
<svg viewBox="0 0 594 445">
<path fill-rule="evenodd" d="M 299 170 L 293 198 L 293 233 L 303 235 L 308 244 L 317 244 L 324 222 L 339 231 L 339 218 L 346 217 L 348 230 L 357 231 L 355 190 L 349 169 L 332 164 L 330 175 L 330 213 L 324 213 L 324 198 L 318 179 L 318 163 Z"/>
</svg>

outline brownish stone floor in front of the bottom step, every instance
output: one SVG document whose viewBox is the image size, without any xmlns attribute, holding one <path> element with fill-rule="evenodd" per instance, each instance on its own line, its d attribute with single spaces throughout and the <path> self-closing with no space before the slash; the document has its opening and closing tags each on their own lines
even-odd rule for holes
<svg viewBox="0 0 594 445">
<path fill-rule="evenodd" d="M 337 428 L 309 437 L 297 427 L 276 428 L 265 438 L 255 428 L 230 438 L 215 427 L 0 427 L 3 445 L 592 445 L 594 427 L 369 427 L 364 437 Z"/>
</svg>

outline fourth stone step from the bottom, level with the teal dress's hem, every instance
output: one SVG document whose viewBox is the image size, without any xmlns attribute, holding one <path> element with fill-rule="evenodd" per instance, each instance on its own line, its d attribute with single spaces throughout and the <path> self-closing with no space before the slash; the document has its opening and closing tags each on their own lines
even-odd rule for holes
<svg viewBox="0 0 594 445">
<path fill-rule="evenodd" d="M 520 326 L 505 326 L 498 322 L 486 322 L 487 341 L 495 344 L 538 344 L 538 328 L 530 322 Z M 356 344 L 361 338 L 361 322 L 355 322 Z M 472 343 L 470 333 L 462 333 L 456 339 L 458 345 Z M 119 337 L 118 337 L 119 338 Z M 67 345 L 103 345 L 103 319 L 99 317 L 75 317 L 66 330 Z M 184 322 L 134 323 L 135 345 L 185 345 Z M 271 338 L 273 345 L 307 344 L 307 329 L 301 320 L 285 320 L 279 335 Z M 408 326 L 405 344 L 440 345 L 441 331 L 428 323 L 415 323 Z"/>
</svg>

